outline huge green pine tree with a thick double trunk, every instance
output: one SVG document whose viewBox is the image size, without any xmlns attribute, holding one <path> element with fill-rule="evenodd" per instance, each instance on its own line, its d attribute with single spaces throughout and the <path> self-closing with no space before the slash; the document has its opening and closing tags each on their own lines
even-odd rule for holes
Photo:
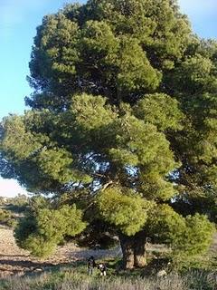
<svg viewBox="0 0 217 290">
<path fill-rule="evenodd" d="M 20 245 L 32 238 L 38 254 L 42 217 L 63 203 L 118 235 L 125 267 L 146 265 L 146 237 L 202 253 L 216 210 L 216 52 L 171 0 L 90 0 L 45 16 L 32 110 L 1 125 L 2 175 L 56 199 Z"/>
</svg>

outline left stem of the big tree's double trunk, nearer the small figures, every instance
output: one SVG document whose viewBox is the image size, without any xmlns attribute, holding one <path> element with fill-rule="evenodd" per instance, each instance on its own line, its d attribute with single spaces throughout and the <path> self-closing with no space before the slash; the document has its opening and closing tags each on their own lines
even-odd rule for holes
<svg viewBox="0 0 217 290">
<path fill-rule="evenodd" d="M 132 269 L 134 267 L 134 248 L 133 239 L 130 237 L 120 236 L 120 247 L 123 254 L 123 268 Z"/>
</svg>

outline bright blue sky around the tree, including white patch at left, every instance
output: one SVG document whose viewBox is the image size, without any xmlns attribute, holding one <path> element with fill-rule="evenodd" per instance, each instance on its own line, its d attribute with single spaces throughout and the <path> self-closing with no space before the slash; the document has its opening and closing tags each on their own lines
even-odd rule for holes
<svg viewBox="0 0 217 290">
<path fill-rule="evenodd" d="M 25 78 L 36 26 L 44 14 L 56 12 L 68 2 L 0 0 L 0 120 L 9 112 L 24 111 L 24 96 L 31 92 Z M 217 39 L 217 0 L 179 0 L 179 5 L 195 33 Z M 0 196 L 23 192 L 14 180 L 0 179 Z"/>
</svg>

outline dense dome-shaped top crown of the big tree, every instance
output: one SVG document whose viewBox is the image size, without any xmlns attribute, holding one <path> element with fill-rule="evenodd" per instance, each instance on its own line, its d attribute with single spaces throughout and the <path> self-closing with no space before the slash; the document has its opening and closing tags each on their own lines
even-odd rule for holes
<svg viewBox="0 0 217 290">
<path fill-rule="evenodd" d="M 61 109 L 74 92 L 137 100 L 187 47 L 190 28 L 169 1 L 88 1 L 45 16 L 30 63 L 33 108 Z M 71 82 L 67 80 L 71 79 Z M 59 98 L 58 96 L 64 96 Z"/>
</svg>

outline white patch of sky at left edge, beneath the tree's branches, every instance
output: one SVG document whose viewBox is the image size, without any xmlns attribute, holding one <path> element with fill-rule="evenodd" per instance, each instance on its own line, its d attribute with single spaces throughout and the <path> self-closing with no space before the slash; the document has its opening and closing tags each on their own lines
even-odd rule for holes
<svg viewBox="0 0 217 290">
<path fill-rule="evenodd" d="M 0 197 L 13 198 L 18 193 L 27 194 L 27 191 L 14 179 L 0 178 Z"/>
</svg>

